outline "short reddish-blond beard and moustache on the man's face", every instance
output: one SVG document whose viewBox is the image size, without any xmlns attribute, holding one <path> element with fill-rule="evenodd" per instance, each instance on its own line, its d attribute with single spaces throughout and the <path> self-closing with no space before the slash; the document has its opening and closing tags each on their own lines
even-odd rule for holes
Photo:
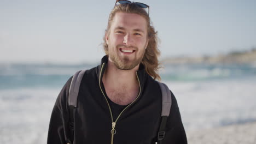
<svg viewBox="0 0 256 144">
<path fill-rule="evenodd" d="M 117 45 L 117 47 L 115 49 L 118 49 L 118 47 L 127 47 L 124 45 Z M 130 46 L 133 49 L 136 50 L 136 52 L 138 52 L 138 48 L 134 47 L 134 46 Z M 145 53 L 145 49 L 143 49 L 143 52 L 138 56 L 135 57 L 134 59 L 130 59 L 129 56 L 124 56 L 124 57 L 120 57 L 118 56 L 118 52 L 109 52 L 109 58 L 112 60 L 112 62 L 114 63 L 115 67 L 117 67 L 118 69 L 121 70 L 131 70 L 133 68 L 135 68 L 139 63 L 141 63 L 144 53 Z"/>
</svg>

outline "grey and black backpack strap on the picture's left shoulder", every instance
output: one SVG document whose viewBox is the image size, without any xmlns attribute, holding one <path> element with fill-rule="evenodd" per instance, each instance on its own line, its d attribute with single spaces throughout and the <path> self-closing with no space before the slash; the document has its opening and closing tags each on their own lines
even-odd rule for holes
<svg viewBox="0 0 256 144">
<path fill-rule="evenodd" d="M 68 106 L 69 106 L 69 130 L 68 144 L 73 143 L 74 139 L 74 109 L 77 107 L 77 97 L 80 88 L 81 81 L 83 79 L 86 70 L 77 71 L 72 77 L 72 81 L 69 87 L 68 94 Z"/>
</svg>

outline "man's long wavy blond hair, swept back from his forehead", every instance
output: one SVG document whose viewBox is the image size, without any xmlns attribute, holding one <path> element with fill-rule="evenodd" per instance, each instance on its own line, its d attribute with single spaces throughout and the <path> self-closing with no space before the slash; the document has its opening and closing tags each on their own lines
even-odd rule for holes
<svg viewBox="0 0 256 144">
<path fill-rule="evenodd" d="M 143 16 L 147 21 L 148 27 L 148 46 L 146 52 L 142 58 L 141 63 L 145 66 L 147 73 L 153 77 L 153 79 L 161 80 L 161 77 L 158 74 L 158 70 L 161 67 L 160 62 L 158 61 L 158 57 L 160 56 L 160 51 L 158 49 L 158 37 L 157 32 L 155 32 L 155 28 L 150 26 L 150 18 L 147 12 L 143 8 L 137 7 L 134 3 L 131 4 L 119 4 L 116 5 L 109 14 L 108 26 L 105 34 L 109 34 L 109 29 L 111 27 L 112 21 L 116 13 L 133 13 Z M 108 44 L 106 42 L 105 37 L 103 37 L 104 43 L 104 51 L 106 55 L 108 53 Z"/>
</svg>

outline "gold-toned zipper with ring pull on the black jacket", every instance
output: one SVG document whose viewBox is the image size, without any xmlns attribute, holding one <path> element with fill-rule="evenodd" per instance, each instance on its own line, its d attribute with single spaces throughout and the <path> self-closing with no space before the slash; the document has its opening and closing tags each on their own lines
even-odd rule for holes
<svg viewBox="0 0 256 144">
<path fill-rule="evenodd" d="M 111 133 L 111 144 L 113 144 L 113 141 L 114 141 L 114 134 L 117 133 L 117 131 L 115 130 L 115 125 L 117 124 L 117 121 L 118 121 L 119 117 L 122 115 L 122 113 L 123 113 L 130 105 L 132 105 L 132 104 L 138 99 L 139 95 L 141 94 L 141 82 L 139 81 L 138 73 L 137 73 L 137 71 L 136 71 L 136 76 L 137 76 L 138 83 L 139 83 L 139 93 L 138 93 L 138 96 L 137 96 L 137 98 L 136 98 L 135 100 L 132 101 L 131 104 L 127 105 L 127 106 L 125 107 L 125 109 L 119 113 L 117 119 L 115 119 L 115 121 L 114 121 L 111 107 L 110 107 L 110 105 L 109 105 L 109 103 L 108 103 L 108 100 L 107 100 L 106 95 L 103 93 L 102 88 L 101 88 L 101 75 L 102 75 L 102 70 L 103 70 L 104 65 L 105 65 L 105 63 L 103 63 L 103 64 L 102 64 L 102 67 L 101 67 L 100 79 L 98 79 L 98 85 L 100 86 L 101 92 L 102 92 L 102 94 L 104 95 L 104 98 L 106 99 L 107 104 L 108 104 L 108 108 L 109 108 L 109 112 L 110 112 L 110 116 L 111 116 L 111 120 L 112 120 L 112 129 L 110 130 L 110 133 Z"/>
</svg>

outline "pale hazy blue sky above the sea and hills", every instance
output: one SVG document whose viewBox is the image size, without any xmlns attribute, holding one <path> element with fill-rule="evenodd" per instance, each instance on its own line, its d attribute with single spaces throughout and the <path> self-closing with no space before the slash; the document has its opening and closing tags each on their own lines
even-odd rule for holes
<svg viewBox="0 0 256 144">
<path fill-rule="evenodd" d="M 139 1 L 150 6 L 161 58 L 256 47 L 255 0 Z M 98 62 L 115 0 L 0 0 L 0 62 Z"/>
</svg>

